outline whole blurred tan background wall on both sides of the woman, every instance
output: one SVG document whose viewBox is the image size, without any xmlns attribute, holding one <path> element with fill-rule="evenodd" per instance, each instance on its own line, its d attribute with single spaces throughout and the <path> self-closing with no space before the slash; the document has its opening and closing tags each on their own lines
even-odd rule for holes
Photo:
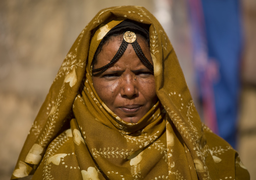
<svg viewBox="0 0 256 180">
<path fill-rule="evenodd" d="M 30 126 L 73 42 L 103 8 L 144 6 L 166 30 L 198 103 L 185 0 L 0 1 L 0 179 L 9 179 Z M 256 2 L 243 0 L 245 49 L 237 150 L 256 179 Z"/>
</svg>

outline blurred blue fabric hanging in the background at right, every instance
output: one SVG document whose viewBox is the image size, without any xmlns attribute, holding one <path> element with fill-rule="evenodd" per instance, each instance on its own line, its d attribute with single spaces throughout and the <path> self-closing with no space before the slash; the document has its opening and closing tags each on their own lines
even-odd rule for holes
<svg viewBox="0 0 256 180">
<path fill-rule="evenodd" d="M 238 0 L 202 0 L 208 57 L 216 61 L 214 82 L 218 132 L 236 147 L 242 32 Z"/>
</svg>

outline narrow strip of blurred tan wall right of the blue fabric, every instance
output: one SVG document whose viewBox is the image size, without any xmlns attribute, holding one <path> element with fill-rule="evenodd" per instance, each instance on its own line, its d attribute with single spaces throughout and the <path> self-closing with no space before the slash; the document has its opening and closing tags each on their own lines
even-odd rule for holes
<svg viewBox="0 0 256 180">
<path fill-rule="evenodd" d="M 256 1 L 243 0 L 244 51 L 241 62 L 238 152 L 256 179 Z"/>
</svg>

